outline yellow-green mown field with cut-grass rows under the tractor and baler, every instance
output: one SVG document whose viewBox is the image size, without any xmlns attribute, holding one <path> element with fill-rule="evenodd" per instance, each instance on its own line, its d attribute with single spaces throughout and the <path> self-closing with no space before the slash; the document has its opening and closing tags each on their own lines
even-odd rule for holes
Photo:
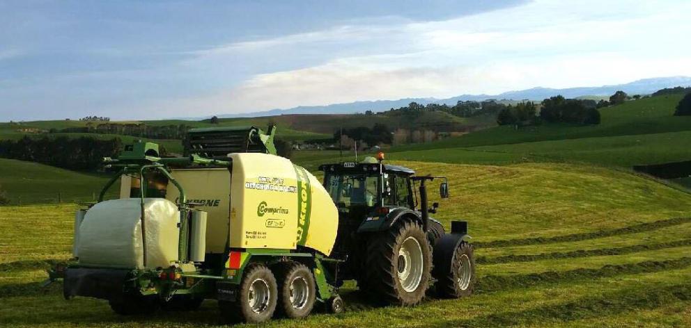
<svg viewBox="0 0 691 328">
<path fill-rule="evenodd" d="M 399 162 L 397 162 L 399 163 Z M 376 307 L 347 284 L 347 311 L 269 327 L 684 327 L 691 325 L 691 194 L 603 167 L 400 162 L 444 173 L 435 215 L 469 221 L 479 285 L 463 300 Z M 42 290 L 68 259 L 74 204 L 0 207 L 0 325 L 216 327 L 217 306 L 120 317 L 107 302 Z"/>
</svg>

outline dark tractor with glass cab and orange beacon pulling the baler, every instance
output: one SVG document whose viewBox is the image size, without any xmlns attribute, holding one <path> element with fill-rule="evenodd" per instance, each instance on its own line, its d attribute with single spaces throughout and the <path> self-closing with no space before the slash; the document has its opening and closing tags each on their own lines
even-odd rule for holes
<svg viewBox="0 0 691 328">
<path fill-rule="evenodd" d="M 431 286 L 442 298 L 472 293 L 473 248 L 467 222 L 451 222 L 451 233 L 430 218 L 427 183 L 444 177 L 416 176 L 413 170 L 368 158 L 363 163 L 321 165 L 324 187 L 339 210 L 339 230 L 331 257 L 343 261 L 334 284 L 357 280 L 358 288 L 382 304 L 419 303 Z"/>
</svg>

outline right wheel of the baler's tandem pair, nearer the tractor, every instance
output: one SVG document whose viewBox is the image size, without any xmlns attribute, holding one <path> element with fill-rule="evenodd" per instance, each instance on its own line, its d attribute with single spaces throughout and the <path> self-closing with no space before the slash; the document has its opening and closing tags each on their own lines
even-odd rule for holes
<svg viewBox="0 0 691 328">
<path fill-rule="evenodd" d="M 316 282 L 306 265 L 288 262 L 278 274 L 276 312 L 286 318 L 304 318 L 311 313 L 316 300 Z"/>
</svg>

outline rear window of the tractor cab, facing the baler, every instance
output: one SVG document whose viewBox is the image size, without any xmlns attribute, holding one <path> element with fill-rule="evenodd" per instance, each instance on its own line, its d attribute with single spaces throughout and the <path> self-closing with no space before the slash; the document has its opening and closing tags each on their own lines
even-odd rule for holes
<svg viewBox="0 0 691 328">
<path fill-rule="evenodd" d="M 365 174 L 329 174 L 325 187 L 339 208 L 375 206 L 379 195 L 379 176 Z"/>
</svg>

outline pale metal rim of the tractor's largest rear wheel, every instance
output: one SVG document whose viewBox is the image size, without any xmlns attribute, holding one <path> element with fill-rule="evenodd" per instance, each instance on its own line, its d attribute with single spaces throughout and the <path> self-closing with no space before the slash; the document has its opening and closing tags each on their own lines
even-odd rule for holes
<svg viewBox="0 0 691 328">
<path fill-rule="evenodd" d="M 420 286 L 423 261 L 422 247 L 417 239 L 408 237 L 403 240 L 401 248 L 398 249 L 396 270 L 398 271 L 398 281 L 401 282 L 401 287 L 408 293 Z"/>
</svg>

